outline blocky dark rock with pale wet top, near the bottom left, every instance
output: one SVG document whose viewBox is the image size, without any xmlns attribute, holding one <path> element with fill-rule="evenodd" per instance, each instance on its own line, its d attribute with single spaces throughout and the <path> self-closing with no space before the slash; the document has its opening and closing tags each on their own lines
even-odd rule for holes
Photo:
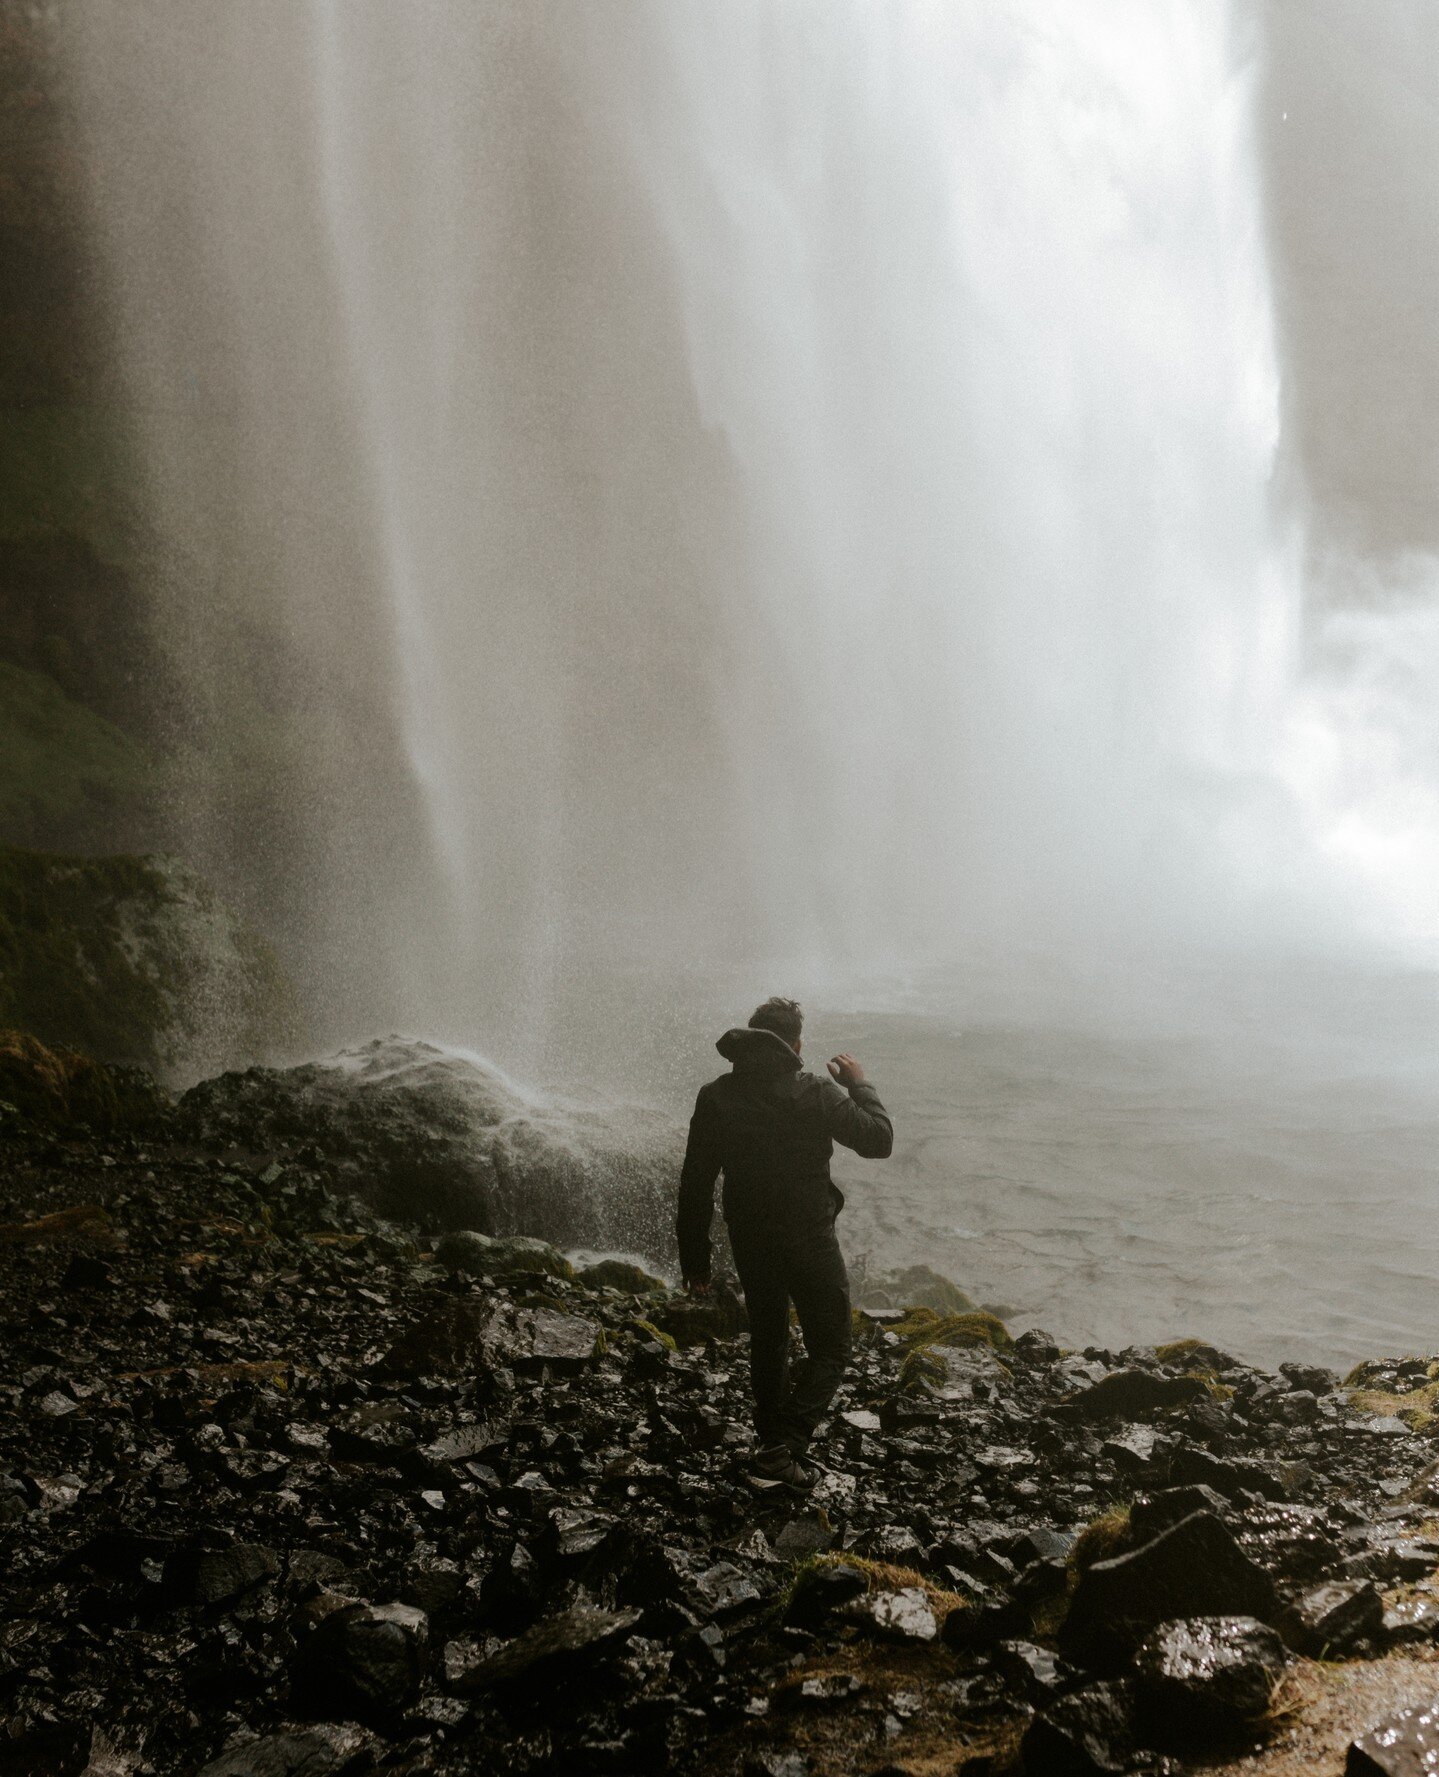
<svg viewBox="0 0 1439 1777">
<path fill-rule="evenodd" d="M 300 1642 L 291 1695 L 306 1713 L 384 1720 L 425 1677 L 430 1628 L 412 1605 L 343 1605 Z"/>
</svg>

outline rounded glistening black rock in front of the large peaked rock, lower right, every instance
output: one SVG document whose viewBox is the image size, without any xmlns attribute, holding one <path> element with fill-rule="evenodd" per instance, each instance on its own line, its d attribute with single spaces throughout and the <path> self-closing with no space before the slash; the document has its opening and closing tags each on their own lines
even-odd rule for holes
<svg viewBox="0 0 1439 1777">
<path fill-rule="evenodd" d="M 1183 1745 L 1240 1733 L 1268 1708 L 1288 1658 L 1274 1630 L 1254 1617 L 1165 1622 L 1133 1663 L 1148 1738 Z"/>
</svg>

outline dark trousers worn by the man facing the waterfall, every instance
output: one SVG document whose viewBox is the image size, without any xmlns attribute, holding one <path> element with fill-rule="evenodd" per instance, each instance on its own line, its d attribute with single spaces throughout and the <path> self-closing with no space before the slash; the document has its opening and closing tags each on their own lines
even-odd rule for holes
<svg viewBox="0 0 1439 1777">
<path fill-rule="evenodd" d="M 730 1228 L 730 1247 L 750 1311 L 750 1383 L 762 1445 L 805 1448 L 849 1361 L 849 1276 L 835 1224 L 764 1235 Z M 805 1358 L 789 1365 L 789 1304 L 799 1315 Z"/>
</svg>

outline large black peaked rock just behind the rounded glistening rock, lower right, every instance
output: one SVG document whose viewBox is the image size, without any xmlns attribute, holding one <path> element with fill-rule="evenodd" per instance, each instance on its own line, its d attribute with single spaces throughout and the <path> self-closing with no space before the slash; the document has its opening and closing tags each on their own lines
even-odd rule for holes
<svg viewBox="0 0 1439 1777">
<path fill-rule="evenodd" d="M 1171 1617 L 1267 1621 L 1276 1608 L 1274 1583 L 1233 1534 L 1212 1512 L 1192 1512 L 1153 1541 L 1085 1567 L 1061 1630 L 1061 1647 L 1107 1660 Z"/>
</svg>

